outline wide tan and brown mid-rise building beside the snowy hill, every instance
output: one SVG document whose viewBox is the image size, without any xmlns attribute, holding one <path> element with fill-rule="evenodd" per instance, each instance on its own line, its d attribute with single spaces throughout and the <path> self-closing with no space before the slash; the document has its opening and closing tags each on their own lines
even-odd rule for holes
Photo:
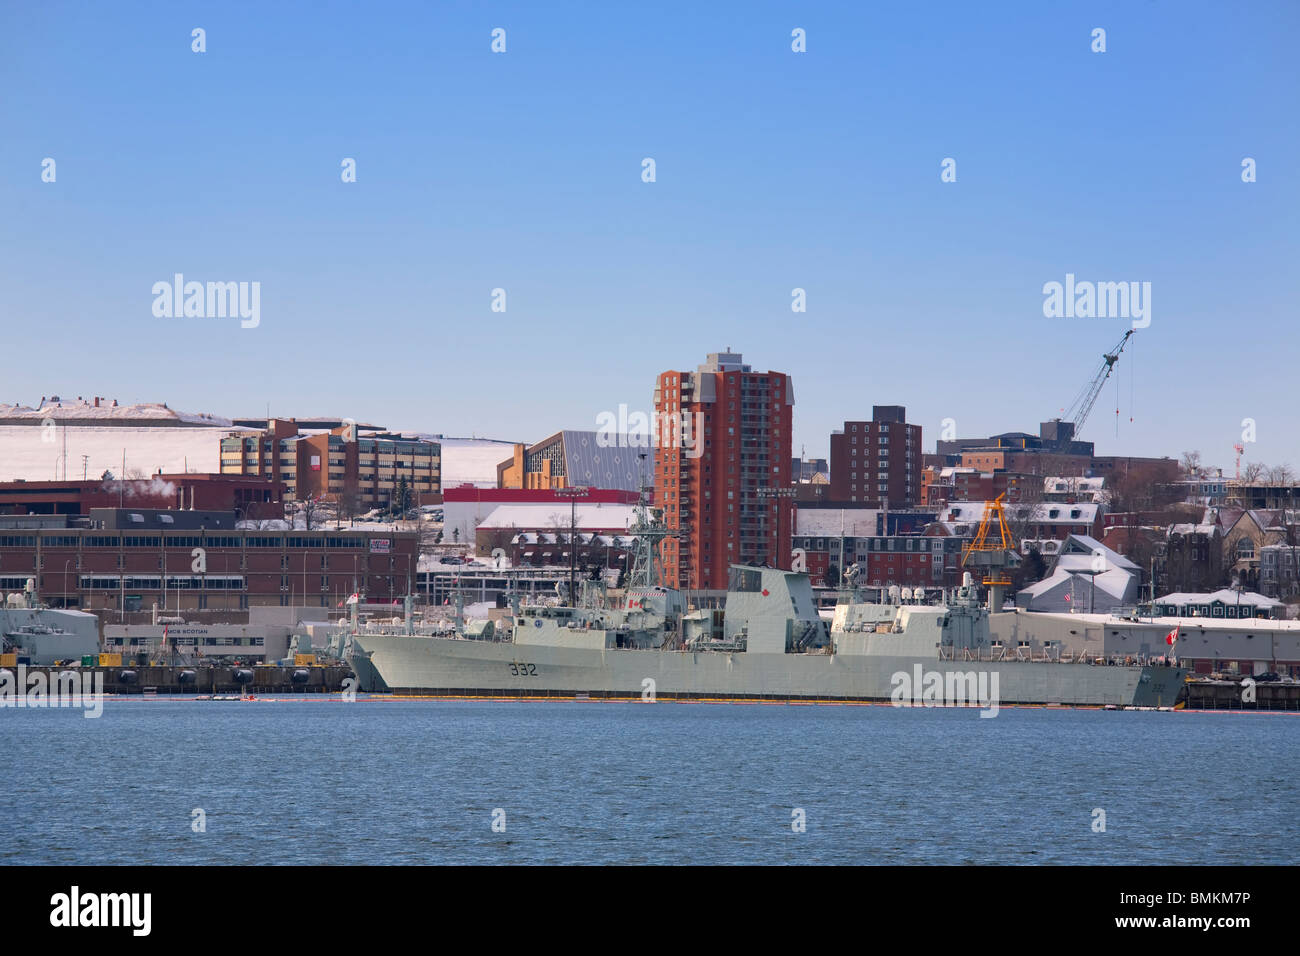
<svg viewBox="0 0 1300 956">
<path fill-rule="evenodd" d="M 292 419 L 272 419 L 259 434 L 221 440 L 222 475 L 261 475 L 283 481 L 286 499 L 352 498 L 356 511 L 395 502 L 406 480 L 411 505 L 442 492 L 442 449 L 436 441 L 406 438 L 338 424 L 304 434 Z"/>
</svg>

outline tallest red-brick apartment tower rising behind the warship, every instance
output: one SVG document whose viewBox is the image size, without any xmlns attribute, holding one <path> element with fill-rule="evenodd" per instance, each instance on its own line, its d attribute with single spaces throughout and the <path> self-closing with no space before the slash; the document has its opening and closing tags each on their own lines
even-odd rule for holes
<svg viewBox="0 0 1300 956">
<path fill-rule="evenodd" d="M 694 372 L 663 372 L 654 406 L 655 502 L 680 533 L 664 545 L 668 583 L 723 589 L 731 564 L 789 567 L 790 377 L 711 352 Z"/>
</svg>

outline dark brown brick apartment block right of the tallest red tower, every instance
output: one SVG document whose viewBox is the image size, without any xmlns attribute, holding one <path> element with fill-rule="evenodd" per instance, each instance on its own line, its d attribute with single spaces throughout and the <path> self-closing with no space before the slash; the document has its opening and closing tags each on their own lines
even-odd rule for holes
<svg viewBox="0 0 1300 956">
<path fill-rule="evenodd" d="M 920 503 L 920 425 L 901 405 L 878 405 L 870 421 L 845 421 L 831 434 L 831 501 L 870 507 Z"/>
</svg>

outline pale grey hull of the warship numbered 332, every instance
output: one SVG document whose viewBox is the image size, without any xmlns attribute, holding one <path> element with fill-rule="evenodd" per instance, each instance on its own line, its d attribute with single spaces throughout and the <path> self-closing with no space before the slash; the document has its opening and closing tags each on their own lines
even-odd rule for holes
<svg viewBox="0 0 1300 956">
<path fill-rule="evenodd" d="M 659 697 L 888 701 L 893 675 L 913 675 L 919 665 L 923 671 L 985 672 L 989 682 L 996 674 L 1004 705 L 1173 706 L 1186 676 L 1164 666 L 599 650 L 402 635 L 358 635 L 352 652 L 363 691 L 432 696 L 641 697 L 651 679 Z"/>
</svg>

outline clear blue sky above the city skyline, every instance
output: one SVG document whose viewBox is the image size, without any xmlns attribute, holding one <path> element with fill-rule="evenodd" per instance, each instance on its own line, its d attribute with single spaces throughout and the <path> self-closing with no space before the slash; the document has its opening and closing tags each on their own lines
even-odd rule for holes
<svg viewBox="0 0 1300 956">
<path fill-rule="evenodd" d="M 0 0 L 0 402 L 533 441 L 729 346 L 796 454 L 896 403 L 931 449 L 1070 403 L 1130 324 L 1044 317 L 1074 273 L 1152 284 L 1100 453 L 1300 466 L 1297 47 L 1294 0 Z M 177 272 L 260 325 L 156 317 Z"/>
</svg>

